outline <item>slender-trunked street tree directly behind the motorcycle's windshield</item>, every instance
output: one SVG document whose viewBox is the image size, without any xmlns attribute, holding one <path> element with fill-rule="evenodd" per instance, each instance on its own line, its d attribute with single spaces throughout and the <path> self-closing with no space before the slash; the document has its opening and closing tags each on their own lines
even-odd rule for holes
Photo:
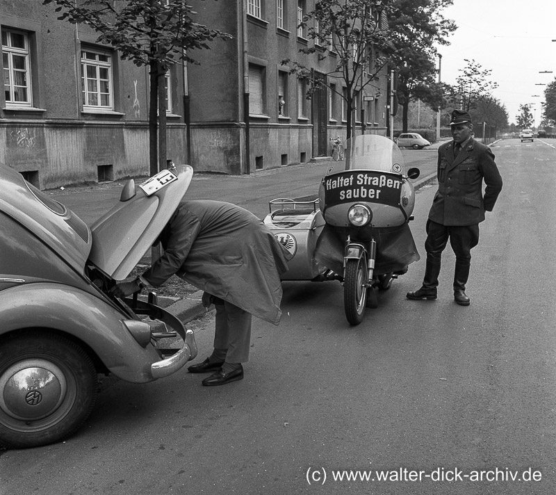
<svg viewBox="0 0 556 495">
<path fill-rule="evenodd" d="M 318 0 L 297 26 L 318 45 L 318 48 L 304 47 L 300 53 L 317 53 L 318 60 L 331 62 L 332 69 L 326 75 L 343 83 L 337 85 L 340 89 L 336 93 L 347 108 L 347 138 L 353 135 L 357 98 L 364 88 L 375 86 L 389 62 L 384 56 L 391 38 L 386 23 L 382 22 L 384 3 L 382 0 Z M 313 77 L 311 69 L 301 60 L 286 58 L 282 65 L 289 65 L 291 74 L 306 80 L 308 98 L 316 90 L 327 87 L 326 78 Z"/>
</svg>

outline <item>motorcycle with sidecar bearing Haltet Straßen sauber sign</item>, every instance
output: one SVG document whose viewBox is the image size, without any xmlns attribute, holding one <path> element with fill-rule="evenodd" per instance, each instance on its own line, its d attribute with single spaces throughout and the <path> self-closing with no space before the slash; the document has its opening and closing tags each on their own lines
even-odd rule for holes
<svg viewBox="0 0 556 495">
<path fill-rule="evenodd" d="M 265 224 L 293 255 L 282 280 L 339 280 L 344 310 L 359 325 L 377 291 L 418 261 L 409 221 L 418 168 L 404 172 L 398 146 L 376 134 L 345 143 L 345 163 L 328 168 L 318 197 L 270 201 Z"/>
</svg>

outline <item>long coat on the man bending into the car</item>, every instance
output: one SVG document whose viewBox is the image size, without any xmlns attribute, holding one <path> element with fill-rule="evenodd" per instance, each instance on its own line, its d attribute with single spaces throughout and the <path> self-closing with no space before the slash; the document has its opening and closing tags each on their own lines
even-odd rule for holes
<svg viewBox="0 0 556 495">
<path fill-rule="evenodd" d="M 254 316 L 279 322 L 280 273 L 290 255 L 250 211 L 181 200 L 160 240 L 163 256 L 142 275 L 150 284 L 159 286 L 175 273 Z"/>
</svg>

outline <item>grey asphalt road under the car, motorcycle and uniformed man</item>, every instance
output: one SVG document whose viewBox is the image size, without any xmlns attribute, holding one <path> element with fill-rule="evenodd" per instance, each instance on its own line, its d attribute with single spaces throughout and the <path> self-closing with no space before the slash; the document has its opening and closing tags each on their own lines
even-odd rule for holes
<svg viewBox="0 0 556 495">
<path fill-rule="evenodd" d="M 0 494 L 556 493 L 556 150 L 494 151 L 505 186 L 473 250 L 470 307 L 452 300 L 450 250 L 439 299 L 404 298 L 423 276 L 425 187 L 411 225 L 423 259 L 361 325 L 338 282 L 284 283 L 281 323 L 254 323 L 243 381 L 115 382 L 66 442 L 0 453 Z M 200 360 L 213 318 L 192 325 Z"/>
</svg>

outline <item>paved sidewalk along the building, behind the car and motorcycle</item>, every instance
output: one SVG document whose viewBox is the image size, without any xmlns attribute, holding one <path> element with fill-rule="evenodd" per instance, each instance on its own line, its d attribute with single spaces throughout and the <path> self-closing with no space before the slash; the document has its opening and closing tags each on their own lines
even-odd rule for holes
<svg viewBox="0 0 556 495">
<path fill-rule="evenodd" d="M 436 150 L 440 144 L 435 143 L 429 149 Z M 310 163 L 262 170 L 249 176 L 195 174 L 187 195 L 191 199 L 214 198 L 229 201 L 252 211 L 259 218 L 264 218 L 268 213 L 269 200 L 316 194 L 326 170 L 337 163 L 325 157 Z M 427 170 L 422 170 L 422 174 L 422 177 L 414 181 L 416 190 L 436 179 L 436 159 L 431 161 Z M 136 179 L 136 184 L 142 179 Z M 91 225 L 117 203 L 124 183 L 125 181 L 115 181 L 90 186 L 69 186 L 45 192 Z M 149 259 L 144 257 L 140 264 L 148 266 Z M 183 323 L 208 311 L 202 306 L 202 291 L 196 291 L 191 286 L 188 289 L 190 290 L 175 298 L 158 297 L 159 305 L 176 315 Z"/>
</svg>

